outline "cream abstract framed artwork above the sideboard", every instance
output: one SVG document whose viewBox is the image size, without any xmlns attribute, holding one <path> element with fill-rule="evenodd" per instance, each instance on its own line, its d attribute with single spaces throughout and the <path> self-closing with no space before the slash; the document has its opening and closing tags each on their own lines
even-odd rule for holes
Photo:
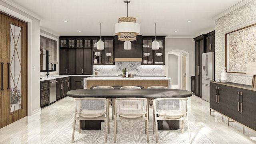
<svg viewBox="0 0 256 144">
<path fill-rule="evenodd" d="M 256 62 L 256 24 L 225 34 L 227 72 L 246 73 L 247 63 Z"/>
</svg>

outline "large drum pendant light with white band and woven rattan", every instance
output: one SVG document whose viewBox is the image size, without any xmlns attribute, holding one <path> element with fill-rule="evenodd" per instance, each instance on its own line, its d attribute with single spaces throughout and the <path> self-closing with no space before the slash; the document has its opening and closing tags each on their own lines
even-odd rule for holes
<svg viewBox="0 0 256 144">
<path fill-rule="evenodd" d="M 128 17 L 128 3 L 130 1 L 124 2 L 127 5 L 127 16 L 118 19 L 118 23 L 115 24 L 115 34 L 118 35 L 120 41 L 133 41 L 140 34 L 140 24 L 136 23 L 136 18 Z"/>
</svg>

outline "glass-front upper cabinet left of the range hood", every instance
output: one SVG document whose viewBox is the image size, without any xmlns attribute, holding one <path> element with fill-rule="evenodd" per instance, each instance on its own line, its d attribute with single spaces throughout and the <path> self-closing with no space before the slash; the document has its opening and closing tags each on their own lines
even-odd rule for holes
<svg viewBox="0 0 256 144">
<path fill-rule="evenodd" d="M 102 36 L 101 39 L 104 42 L 104 50 L 97 50 L 97 42 L 99 40 L 92 40 L 92 63 L 94 65 L 114 64 L 114 36 Z"/>
</svg>

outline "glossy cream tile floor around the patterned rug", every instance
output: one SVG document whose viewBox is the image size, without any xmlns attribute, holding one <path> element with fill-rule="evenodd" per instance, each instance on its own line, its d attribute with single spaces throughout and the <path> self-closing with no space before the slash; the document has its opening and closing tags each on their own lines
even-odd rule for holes
<svg viewBox="0 0 256 144">
<path fill-rule="evenodd" d="M 65 97 L 42 108 L 38 114 L 1 128 L 0 144 L 48 144 L 50 138 L 74 118 L 74 105 L 74 98 Z M 231 122 L 228 126 L 227 118 L 222 119 L 222 115 L 216 112 L 212 112 L 210 116 L 209 102 L 193 95 L 188 100 L 188 109 L 190 124 L 196 126 L 216 144 L 256 144 L 256 132 L 245 128 L 243 133 L 243 126 L 236 122 Z M 110 116 L 112 117 L 112 113 Z M 70 139 L 71 136 L 64 137 Z M 192 143 L 197 142 L 192 139 Z"/>
</svg>

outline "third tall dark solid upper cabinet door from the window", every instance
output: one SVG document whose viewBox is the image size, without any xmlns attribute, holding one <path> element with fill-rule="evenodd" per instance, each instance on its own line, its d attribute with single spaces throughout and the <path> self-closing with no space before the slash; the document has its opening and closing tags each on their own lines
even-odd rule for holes
<svg viewBox="0 0 256 144">
<path fill-rule="evenodd" d="M 76 74 L 84 73 L 84 49 L 76 49 Z"/>
</svg>

